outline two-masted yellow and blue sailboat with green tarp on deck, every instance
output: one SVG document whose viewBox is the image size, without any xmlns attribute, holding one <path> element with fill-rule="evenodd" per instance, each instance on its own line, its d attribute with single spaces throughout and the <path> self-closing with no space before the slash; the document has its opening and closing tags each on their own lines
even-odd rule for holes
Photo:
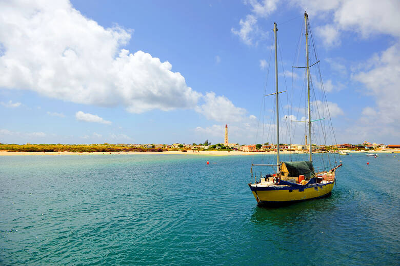
<svg viewBox="0 0 400 266">
<path fill-rule="evenodd" d="M 313 151 L 311 140 L 311 124 L 312 122 L 321 120 L 311 120 L 310 109 L 310 65 L 308 51 L 308 15 L 304 14 L 305 19 L 305 35 L 306 35 L 306 72 L 307 72 L 307 97 L 308 97 L 308 120 L 302 121 L 308 124 L 308 154 L 307 161 L 281 161 L 279 158 L 279 92 L 278 91 L 278 67 L 277 67 L 277 45 L 276 34 L 277 25 L 274 23 L 274 47 L 275 47 L 275 94 L 276 98 L 276 164 L 252 163 L 251 178 L 253 178 L 253 167 L 276 167 L 274 174 L 260 176 L 259 181 L 248 183 L 251 192 L 254 195 L 259 206 L 276 206 L 289 204 L 298 201 L 323 198 L 331 195 L 332 189 L 336 182 L 336 170 L 342 166 L 335 162 L 334 167 L 329 170 L 316 172 L 313 167 Z M 318 62 L 317 62 L 318 63 Z M 315 65 L 315 64 L 314 64 Z M 273 95 L 271 94 L 271 95 Z M 267 96 L 267 95 L 264 95 Z M 324 118 L 322 118 L 324 119 Z M 300 122 L 300 121 L 298 121 Z M 256 179 L 256 177 L 255 177 Z"/>
</svg>

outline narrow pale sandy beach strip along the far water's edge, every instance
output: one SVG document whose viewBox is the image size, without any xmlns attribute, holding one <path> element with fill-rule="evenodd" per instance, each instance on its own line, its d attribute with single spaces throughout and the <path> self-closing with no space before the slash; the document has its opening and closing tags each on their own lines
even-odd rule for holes
<svg viewBox="0 0 400 266">
<path fill-rule="evenodd" d="M 391 153 L 392 151 L 344 151 L 348 153 Z M 394 153 L 400 153 L 400 150 L 393 151 Z M 293 152 L 281 151 L 280 154 L 294 154 Z M 242 151 L 199 151 L 192 152 L 191 150 L 187 152 L 182 151 L 166 151 L 166 152 L 15 152 L 15 151 L 0 151 L 0 156 L 27 156 L 27 155 L 106 155 L 106 154 L 162 154 L 162 155 L 212 155 L 212 156 L 231 156 L 231 155 L 262 155 L 262 154 L 276 154 L 276 152 L 242 152 Z M 298 154 L 303 154 L 299 152 Z M 304 153 L 307 154 L 307 153 Z M 346 155 L 342 155 L 346 156 Z"/>
</svg>

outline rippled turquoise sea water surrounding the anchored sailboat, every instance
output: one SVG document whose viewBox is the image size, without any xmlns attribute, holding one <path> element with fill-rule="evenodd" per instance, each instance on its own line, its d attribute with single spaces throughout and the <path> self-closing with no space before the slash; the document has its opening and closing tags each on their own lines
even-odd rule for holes
<svg viewBox="0 0 400 266">
<path fill-rule="evenodd" d="M 394 156 L 343 156 L 332 196 L 278 209 L 252 156 L 2 156 L 0 264 L 399 265 Z"/>
</svg>

